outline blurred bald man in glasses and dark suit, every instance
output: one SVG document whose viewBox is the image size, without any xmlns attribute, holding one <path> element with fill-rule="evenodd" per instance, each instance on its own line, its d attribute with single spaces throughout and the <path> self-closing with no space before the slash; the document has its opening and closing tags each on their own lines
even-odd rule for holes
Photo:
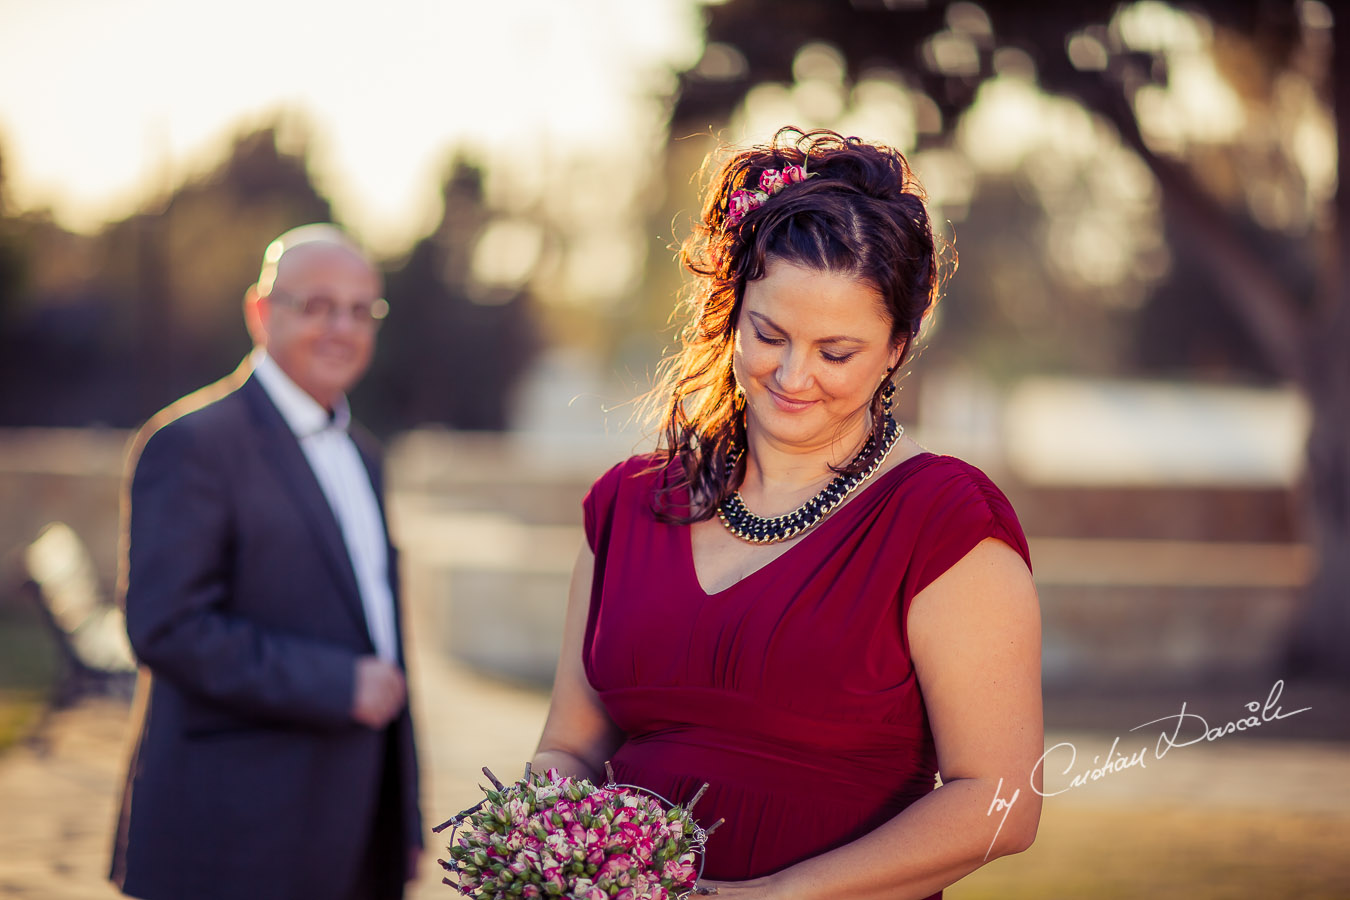
<svg viewBox="0 0 1350 900">
<path fill-rule="evenodd" d="M 254 351 L 132 449 L 142 664 L 112 878 L 130 896 L 401 897 L 421 846 L 379 452 L 346 393 L 387 306 L 333 225 L 267 248 Z"/>
</svg>

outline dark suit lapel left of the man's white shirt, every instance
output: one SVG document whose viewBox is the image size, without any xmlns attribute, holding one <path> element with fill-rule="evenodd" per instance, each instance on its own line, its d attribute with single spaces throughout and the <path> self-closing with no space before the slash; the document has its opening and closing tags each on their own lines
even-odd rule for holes
<svg viewBox="0 0 1350 900">
<path fill-rule="evenodd" d="M 304 513 L 305 521 L 315 534 L 319 552 L 342 588 L 339 594 L 343 598 L 343 606 L 355 617 L 362 634 L 369 641 L 370 627 L 366 623 L 366 610 L 360 602 L 356 573 L 351 567 L 351 556 L 347 553 L 342 528 L 328 505 L 328 498 L 324 497 L 324 491 L 319 486 L 319 479 L 309 467 L 305 452 L 300 448 L 300 441 L 256 378 L 244 382 L 240 393 L 248 401 L 254 420 L 259 425 L 258 433 L 263 444 L 263 456 L 275 467 L 281 483 L 286 486 L 296 506 Z"/>
</svg>

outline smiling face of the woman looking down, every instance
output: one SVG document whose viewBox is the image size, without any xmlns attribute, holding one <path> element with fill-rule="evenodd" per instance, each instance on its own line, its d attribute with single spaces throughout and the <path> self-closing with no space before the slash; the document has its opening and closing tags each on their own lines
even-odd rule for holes
<svg viewBox="0 0 1350 900">
<path fill-rule="evenodd" d="M 748 428 L 778 444 L 842 440 L 852 451 L 899 356 L 882 296 L 864 281 L 770 259 L 745 285 L 732 366 Z"/>
</svg>

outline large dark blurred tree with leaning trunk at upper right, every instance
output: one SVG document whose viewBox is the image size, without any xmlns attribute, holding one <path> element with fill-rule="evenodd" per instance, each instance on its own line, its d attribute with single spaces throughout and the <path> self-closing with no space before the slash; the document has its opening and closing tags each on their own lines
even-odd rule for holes
<svg viewBox="0 0 1350 900">
<path fill-rule="evenodd" d="M 921 146 L 1013 70 L 1115 130 L 1152 174 L 1187 264 L 1262 366 L 1310 401 L 1319 568 L 1289 661 L 1350 675 L 1350 24 L 1316 0 L 729 0 L 705 15 L 676 136 L 729 121 L 757 85 L 791 84 L 803 47 L 822 45 L 853 82 L 905 73 L 932 109 Z M 1207 327 L 1203 310 L 1185 320 Z"/>
</svg>

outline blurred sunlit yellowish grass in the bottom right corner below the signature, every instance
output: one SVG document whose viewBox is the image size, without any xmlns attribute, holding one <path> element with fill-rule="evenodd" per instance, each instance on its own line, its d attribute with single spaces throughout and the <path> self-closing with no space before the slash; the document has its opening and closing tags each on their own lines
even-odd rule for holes
<svg viewBox="0 0 1350 900">
<path fill-rule="evenodd" d="M 946 900 L 1253 900 L 1350 896 L 1346 816 L 1092 808 L 1046 801 L 1035 845 L 949 888 Z"/>
</svg>

